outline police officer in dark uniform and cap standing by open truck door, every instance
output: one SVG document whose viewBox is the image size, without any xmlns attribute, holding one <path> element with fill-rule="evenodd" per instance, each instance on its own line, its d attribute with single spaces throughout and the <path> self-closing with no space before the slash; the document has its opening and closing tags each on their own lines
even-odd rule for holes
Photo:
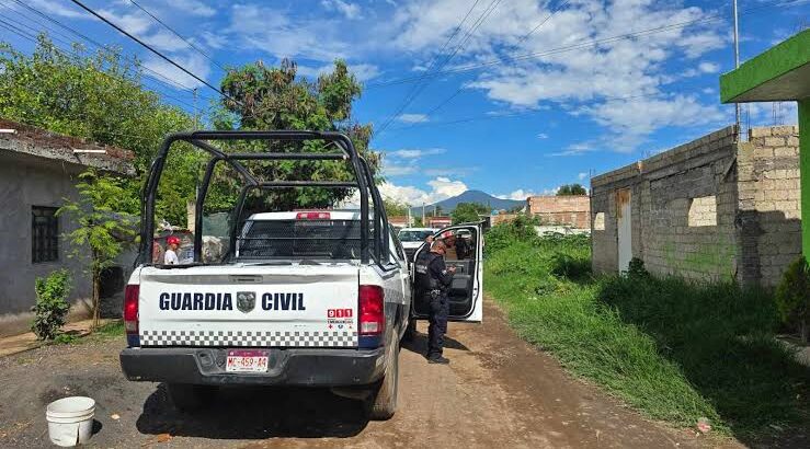
<svg viewBox="0 0 810 449">
<path fill-rule="evenodd" d="M 420 254 L 415 263 L 417 292 L 419 299 L 430 304 L 430 325 L 427 326 L 427 361 L 430 364 L 449 364 L 442 357 L 444 334 L 447 332 L 447 314 L 449 301 L 447 288 L 453 281 L 455 267 L 447 268 L 444 254 L 447 246 L 441 240 L 433 242 L 429 253 Z"/>
</svg>

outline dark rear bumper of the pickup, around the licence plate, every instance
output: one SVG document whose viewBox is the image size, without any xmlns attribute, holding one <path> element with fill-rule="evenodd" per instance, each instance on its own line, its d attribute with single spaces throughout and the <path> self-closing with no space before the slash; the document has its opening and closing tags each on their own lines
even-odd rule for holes
<svg viewBox="0 0 810 449">
<path fill-rule="evenodd" d="M 385 348 L 267 350 L 270 370 L 263 373 L 226 372 L 223 348 L 126 348 L 121 368 L 134 381 L 308 387 L 365 385 L 385 368 Z"/>
</svg>

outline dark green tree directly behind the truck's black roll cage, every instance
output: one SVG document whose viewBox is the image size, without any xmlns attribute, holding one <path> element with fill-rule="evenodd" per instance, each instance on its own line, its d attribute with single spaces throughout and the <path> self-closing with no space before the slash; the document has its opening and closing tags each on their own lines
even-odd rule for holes
<svg viewBox="0 0 810 449">
<path fill-rule="evenodd" d="M 352 103 L 362 92 L 354 74 L 342 60 L 334 61 L 330 73 L 316 82 L 297 77 L 295 62 L 284 59 L 279 67 L 265 67 L 261 61 L 230 70 L 221 82 L 230 97 L 221 102 L 214 119 L 219 129 L 311 129 L 346 134 L 373 170 L 379 166 L 379 156 L 368 150 L 370 125 L 352 119 Z M 235 142 L 243 151 L 266 151 L 263 142 Z M 323 142 L 275 142 L 277 152 L 323 151 Z M 251 163 L 256 176 L 265 180 L 340 180 L 351 181 L 354 174 L 343 161 L 296 163 Z M 345 199 L 349 189 L 308 187 L 264 192 L 250 198 L 248 209 L 328 207 Z"/>
</svg>

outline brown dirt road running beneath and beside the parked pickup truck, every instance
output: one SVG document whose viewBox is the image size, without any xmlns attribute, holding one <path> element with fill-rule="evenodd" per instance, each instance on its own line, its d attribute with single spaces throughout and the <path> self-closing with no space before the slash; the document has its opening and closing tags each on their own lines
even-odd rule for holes
<svg viewBox="0 0 810 449">
<path fill-rule="evenodd" d="M 491 303 L 484 323 L 450 323 L 449 366 L 427 365 L 424 326 L 401 352 L 400 407 L 367 422 L 327 391 L 231 389 L 195 417 L 162 385 L 126 381 L 121 341 L 52 346 L 0 359 L 0 447 L 49 447 L 45 405 L 94 398 L 98 447 L 691 447 L 708 441 L 647 422 L 567 377 L 524 344 Z M 118 419 L 111 416 L 118 415 Z M 715 441 L 717 442 L 717 441 Z"/>
</svg>

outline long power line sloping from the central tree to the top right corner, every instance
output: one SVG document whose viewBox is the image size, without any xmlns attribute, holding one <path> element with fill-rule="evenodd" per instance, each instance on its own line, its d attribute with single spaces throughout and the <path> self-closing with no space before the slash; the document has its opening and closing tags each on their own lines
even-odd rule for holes
<svg viewBox="0 0 810 449">
<path fill-rule="evenodd" d="M 769 3 L 764 3 L 764 4 L 758 5 L 758 7 L 752 7 L 752 8 L 745 9 L 745 10 L 740 10 L 740 13 L 741 13 L 741 15 L 743 15 L 743 14 L 753 13 L 753 12 L 758 11 L 758 10 L 768 9 L 768 8 L 772 8 L 772 7 L 786 7 L 787 8 L 787 7 L 794 7 L 794 5 L 798 5 L 798 4 L 805 4 L 805 3 L 806 3 L 806 1 L 796 2 L 796 3 L 794 3 L 794 2 L 785 3 L 785 0 L 777 0 L 777 1 L 769 2 Z M 419 79 L 422 78 L 422 77 L 433 78 L 433 77 L 442 77 L 442 76 L 445 76 L 445 74 L 463 73 L 463 72 L 467 72 L 467 71 L 474 71 L 474 70 L 482 69 L 482 68 L 486 68 L 486 67 L 499 66 L 499 65 L 503 65 L 503 64 L 506 64 L 506 62 L 515 62 L 515 61 L 521 61 L 521 60 L 534 59 L 534 58 L 538 58 L 538 57 L 543 57 L 543 56 L 549 56 L 549 55 L 556 55 L 556 54 L 560 54 L 560 53 L 567 53 L 567 51 L 572 51 L 572 50 L 578 50 L 578 49 L 583 49 L 583 48 L 595 47 L 595 46 L 598 46 L 601 44 L 608 44 L 608 43 L 612 43 L 612 42 L 629 39 L 629 38 L 632 38 L 632 37 L 639 37 L 639 36 L 644 36 L 644 35 L 664 33 L 664 32 L 672 31 L 672 30 L 685 28 L 687 26 L 692 26 L 692 25 L 696 25 L 696 24 L 710 23 L 710 22 L 716 22 L 718 20 L 725 20 L 725 19 L 726 19 L 726 14 L 725 13 L 719 13 L 719 14 L 709 15 L 709 16 L 701 18 L 701 19 L 696 19 L 696 20 L 685 21 L 685 22 L 678 22 L 678 23 L 669 24 L 669 25 L 657 26 L 657 27 L 641 30 L 641 31 L 638 31 L 638 32 L 632 32 L 632 33 L 627 33 L 627 34 L 619 34 L 619 35 L 611 36 L 611 37 L 605 37 L 605 38 L 602 38 L 602 39 L 583 41 L 583 42 L 580 42 L 580 43 L 577 43 L 577 44 L 561 46 L 561 47 L 557 47 L 557 48 L 551 48 L 551 49 L 544 50 L 544 51 L 534 51 L 534 53 L 528 53 L 528 54 L 518 55 L 518 56 L 514 56 L 514 57 L 504 57 L 504 58 L 499 58 L 499 59 L 492 59 L 492 60 L 484 61 L 484 62 L 479 62 L 479 64 L 474 64 L 474 65 L 457 67 L 457 68 L 454 68 L 454 69 L 450 69 L 450 70 L 436 71 L 436 72 L 433 72 L 431 74 L 421 74 L 421 76 L 413 76 L 413 77 L 400 78 L 398 80 L 390 80 L 390 81 L 376 82 L 376 83 L 367 83 L 366 84 L 366 89 L 376 89 L 376 88 L 384 88 L 384 87 L 389 87 L 389 85 L 397 85 L 397 84 L 404 84 L 404 83 L 410 83 L 410 82 L 418 82 Z"/>
</svg>

